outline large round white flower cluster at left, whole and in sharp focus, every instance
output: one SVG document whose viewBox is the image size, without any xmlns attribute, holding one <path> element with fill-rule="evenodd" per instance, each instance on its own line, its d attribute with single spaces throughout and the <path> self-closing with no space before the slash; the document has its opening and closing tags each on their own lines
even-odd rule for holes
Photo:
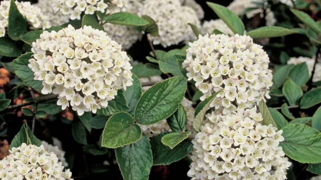
<svg viewBox="0 0 321 180">
<path fill-rule="evenodd" d="M 78 115 L 95 113 L 107 107 L 118 89 L 133 84 L 129 57 L 104 31 L 69 25 L 58 32 L 44 31 L 40 37 L 32 44 L 28 66 L 34 79 L 43 81 L 42 94 L 59 94 L 62 110 L 70 101 Z"/>
</svg>

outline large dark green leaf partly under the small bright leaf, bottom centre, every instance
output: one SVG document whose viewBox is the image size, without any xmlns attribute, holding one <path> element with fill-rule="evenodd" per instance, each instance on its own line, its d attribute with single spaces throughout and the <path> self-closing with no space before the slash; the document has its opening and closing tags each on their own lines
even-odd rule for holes
<svg viewBox="0 0 321 180">
<path fill-rule="evenodd" d="M 190 139 L 185 139 L 173 149 L 170 149 L 161 142 L 162 137 L 166 134 L 168 133 L 154 136 L 150 141 L 153 153 L 153 165 L 168 165 L 176 162 L 187 156 L 193 149 L 193 144 Z"/>
</svg>

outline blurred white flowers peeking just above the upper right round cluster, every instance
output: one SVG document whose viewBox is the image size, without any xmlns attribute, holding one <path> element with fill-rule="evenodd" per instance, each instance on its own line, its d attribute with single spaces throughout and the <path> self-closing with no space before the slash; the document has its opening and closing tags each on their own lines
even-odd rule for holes
<svg viewBox="0 0 321 180">
<path fill-rule="evenodd" d="M 234 32 L 225 24 L 225 22 L 221 19 L 217 20 L 205 20 L 202 25 L 203 33 L 213 34 L 215 29 L 220 30 L 222 33 L 226 35 L 234 35 Z"/>
</svg>

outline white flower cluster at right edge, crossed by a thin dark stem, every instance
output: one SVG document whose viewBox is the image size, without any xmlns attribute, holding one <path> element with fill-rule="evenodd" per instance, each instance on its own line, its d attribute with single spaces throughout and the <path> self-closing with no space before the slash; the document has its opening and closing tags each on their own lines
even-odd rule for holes
<svg viewBox="0 0 321 180">
<path fill-rule="evenodd" d="M 318 62 L 316 64 L 316 69 L 314 71 L 314 75 L 312 78 L 313 82 L 321 81 L 321 59 L 318 58 Z M 311 77 L 313 66 L 315 62 L 315 57 L 309 58 L 309 57 L 291 57 L 290 60 L 287 62 L 288 64 L 300 64 L 306 62 L 309 70 L 309 76 Z"/>
</svg>

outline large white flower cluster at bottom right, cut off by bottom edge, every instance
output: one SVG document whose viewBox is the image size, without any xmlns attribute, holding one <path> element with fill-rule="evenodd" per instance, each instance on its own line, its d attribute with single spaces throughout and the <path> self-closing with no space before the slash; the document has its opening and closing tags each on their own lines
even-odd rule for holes
<svg viewBox="0 0 321 180">
<path fill-rule="evenodd" d="M 282 130 L 261 125 L 256 108 L 220 115 L 208 115 L 208 122 L 192 140 L 193 179 L 286 179 L 291 165 L 279 142 Z"/>
</svg>

